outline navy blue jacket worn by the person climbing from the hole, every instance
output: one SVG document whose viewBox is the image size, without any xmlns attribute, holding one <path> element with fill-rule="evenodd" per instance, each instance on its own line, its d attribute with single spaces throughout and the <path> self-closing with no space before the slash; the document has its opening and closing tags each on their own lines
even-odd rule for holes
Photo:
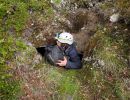
<svg viewBox="0 0 130 100">
<path fill-rule="evenodd" d="M 80 69 L 82 67 L 80 56 L 74 44 L 70 45 L 64 53 L 67 56 L 67 65 L 65 68 Z"/>
</svg>

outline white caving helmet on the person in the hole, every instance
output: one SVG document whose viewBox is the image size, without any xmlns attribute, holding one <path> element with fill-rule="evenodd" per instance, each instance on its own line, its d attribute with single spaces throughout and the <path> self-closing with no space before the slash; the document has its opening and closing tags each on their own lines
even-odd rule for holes
<svg viewBox="0 0 130 100">
<path fill-rule="evenodd" d="M 71 45 L 74 41 L 73 36 L 70 33 L 63 32 L 55 37 L 61 43 L 67 43 Z"/>
</svg>

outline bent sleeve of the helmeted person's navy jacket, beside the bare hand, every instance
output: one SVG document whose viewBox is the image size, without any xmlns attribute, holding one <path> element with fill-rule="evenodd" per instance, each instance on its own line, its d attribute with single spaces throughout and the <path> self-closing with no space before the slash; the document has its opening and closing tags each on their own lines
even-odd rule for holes
<svg viewBox="0 0 130 100">
<path fill-rule="evenodd" d="M 67 60 L 67 69 L 80 69 L 82 67 L 81 60 L 77 52 L 70 52 L 69 59 Z"/>
</svg>

